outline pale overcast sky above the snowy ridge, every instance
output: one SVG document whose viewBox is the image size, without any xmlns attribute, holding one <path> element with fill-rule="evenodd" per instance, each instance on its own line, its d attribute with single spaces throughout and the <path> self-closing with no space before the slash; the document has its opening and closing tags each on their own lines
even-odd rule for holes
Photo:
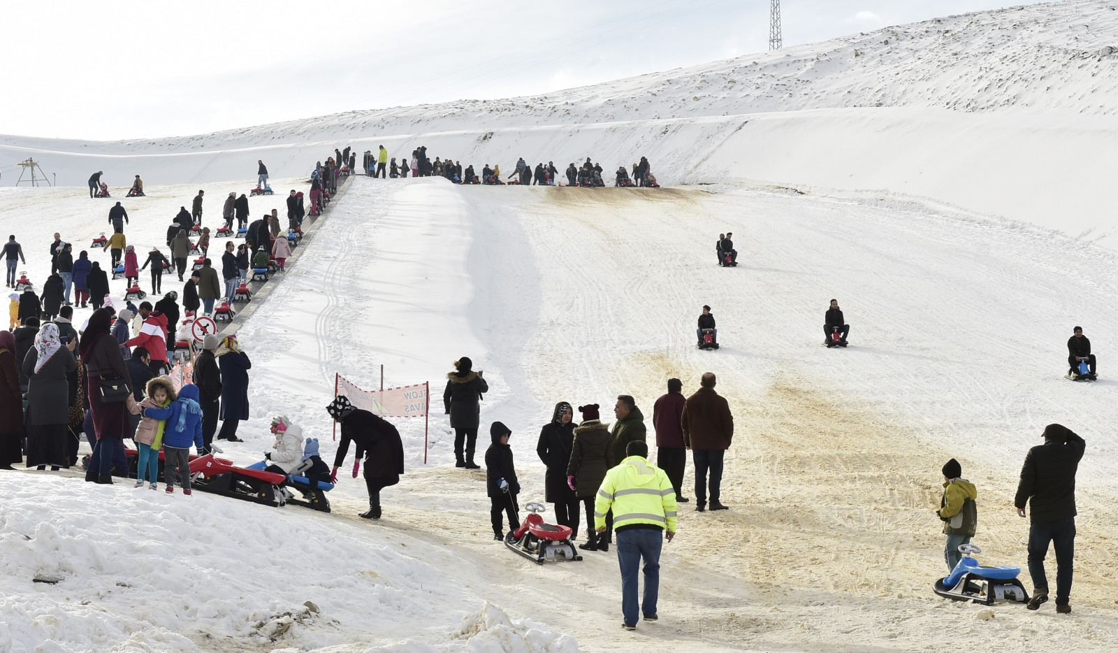
<svg viewBox="0 0 1118 653">
<path fill-rule="evenodd" d="M 1022 3 L 783 0 L 784 42 Z M 0 133 L 193 134 L 352 110 L 527 95 L 768 48 L 769 0 L 482 6 L 12 0 L 2 10 L 7 93 Z"/>
</svg>

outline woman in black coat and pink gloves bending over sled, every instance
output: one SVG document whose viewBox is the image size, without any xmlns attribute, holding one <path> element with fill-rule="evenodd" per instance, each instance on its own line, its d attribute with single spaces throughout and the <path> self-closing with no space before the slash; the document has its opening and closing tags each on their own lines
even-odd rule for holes
<svg viewBox="0 0 1118 653">
<path fill-rule="evenodd" d="M 404 443 L 396 427 L 379 415 L 360 410 L 350 404 L 349 397 L 339 395 L 326 413 L 342 425 L 342 441 L 338 443 L 338 455 L 331 481 L 338 482 L 338 469 L 345 462 L 350 442 L 357 445 L 353 476 L 357 465 L 364 455 L 364 484 L 369 490 L 369 511 L 361 513 L 364 519 L 380 519 L 380 491 L 400 482 L 404 473 Z"/>
</svg>

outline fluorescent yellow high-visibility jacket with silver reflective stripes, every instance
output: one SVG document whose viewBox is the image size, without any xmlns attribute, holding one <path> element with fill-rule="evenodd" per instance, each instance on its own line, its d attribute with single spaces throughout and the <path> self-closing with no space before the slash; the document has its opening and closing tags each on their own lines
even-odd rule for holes
<svg viewBox="0 0 1118 653">
<path fill-rule="evenodd" d="M 594 501 L 594 527 L 606 526 L 614 511 L 614 529 L 638 523 L 675 532 L 675 490 L 667 474 L 641 456 L 629 456 L 606 472 Z"/>
</svg>

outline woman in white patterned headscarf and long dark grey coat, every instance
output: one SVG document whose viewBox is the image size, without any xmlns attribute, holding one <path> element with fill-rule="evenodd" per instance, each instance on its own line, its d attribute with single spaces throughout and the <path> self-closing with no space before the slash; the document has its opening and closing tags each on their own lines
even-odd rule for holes
<svg viewBox="0 0 1118 653">
<path fill-rule="evenodd" d="M 39 329 L 35 347 L 23 359 L 27 386 L 27 466 L 51 471 L 66 464 L 66 426 L 69 422 L 69 381 L 66 375 L 77 369 L 74 344 L 63 344 L 58 326 L 46 323 Z"/>
</svg>

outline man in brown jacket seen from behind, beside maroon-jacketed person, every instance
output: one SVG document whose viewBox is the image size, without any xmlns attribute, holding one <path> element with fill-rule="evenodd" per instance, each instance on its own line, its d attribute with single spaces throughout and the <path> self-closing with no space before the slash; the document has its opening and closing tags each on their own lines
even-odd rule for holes
<svg viewBox="0 0 1118 653">
<path fill-rule="evenodd" d="M 707 472 L 710 471 L 710 509 L 727 510 L 719 501 L 722 458 L 733 439 L 730 404 L 714 391 L 714 375 L 702 376 L 701 388 L 683 404 L 683 444 L 695 463 L 695 510 L 707 509 Z"/>
</svg>

